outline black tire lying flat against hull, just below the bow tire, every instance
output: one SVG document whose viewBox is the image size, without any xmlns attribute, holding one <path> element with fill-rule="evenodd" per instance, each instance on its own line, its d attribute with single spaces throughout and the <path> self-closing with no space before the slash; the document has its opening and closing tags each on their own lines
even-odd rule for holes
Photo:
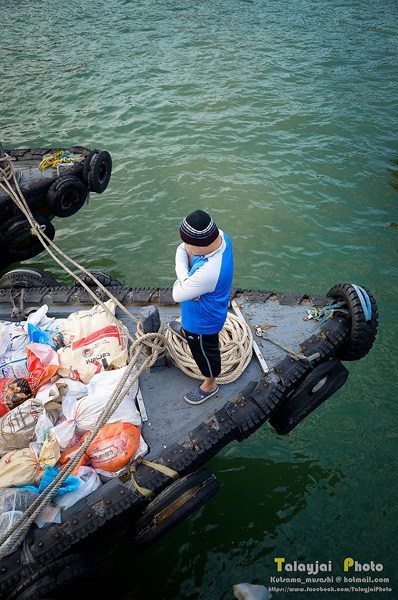
<svg viewBox="0 0 398 600">
<path fill-rule="evenodd" d="M 292 431 L 347 381 L 348 370 L 336 358 L 316 366 L 272 415 L 269 422 L 280 435 Z"/>
</svg>

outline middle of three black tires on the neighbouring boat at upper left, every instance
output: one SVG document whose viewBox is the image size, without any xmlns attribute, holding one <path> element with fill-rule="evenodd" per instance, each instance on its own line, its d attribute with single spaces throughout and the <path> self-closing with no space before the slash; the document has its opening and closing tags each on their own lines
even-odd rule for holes
<svg viewBox="0 0 398 600">
<path fill-rule="evenodd" d="M 71 217 L 82 208 L 87 200 L 88 190 L 83 181 L 74 175 L 58 177 L 46 196 L 46 206 L 56 217 Z"/>
</svg>

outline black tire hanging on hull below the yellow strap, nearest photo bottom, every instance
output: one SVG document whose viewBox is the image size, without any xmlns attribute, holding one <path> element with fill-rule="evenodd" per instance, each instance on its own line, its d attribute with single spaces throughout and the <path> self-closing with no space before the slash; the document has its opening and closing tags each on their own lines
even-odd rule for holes
<svg viewBox="0 0 398 600">
<path fill-rule="evenodd" d="M 170 507 L 175 500 L 196 486 L 200 486 L 200 488 L 193 496 L 173 512 L 170 512 L 165 518 L 156 522 L 157 515 L 161 511 Z M 129 534 L 132 537 L 134 546 L 138 550 L 143 550 L 155 544 L 210 500 L 219 488 L 220 483 L 210 469 L 195 471 L 174 481 L 150 502 L 130 529 Z"/>
</svg>

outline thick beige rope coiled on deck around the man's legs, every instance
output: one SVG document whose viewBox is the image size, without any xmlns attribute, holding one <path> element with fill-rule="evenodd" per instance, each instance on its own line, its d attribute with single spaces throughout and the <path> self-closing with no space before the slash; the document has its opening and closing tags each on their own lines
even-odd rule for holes
<svg viewBox="0 0 398 600">
<path fill-rule="evenodd" d="M 219 333 L 221 374 L 217 383 L 231 383 L 246 369 L 253 353 L 253 336 L 250 327 L 242 319 L 228 313 L 227 320 Z M 187 342 L 170 329 L 166 331 L 166 345 L 176 367 L 194 379 L 203 379 Z"/>
</svg>

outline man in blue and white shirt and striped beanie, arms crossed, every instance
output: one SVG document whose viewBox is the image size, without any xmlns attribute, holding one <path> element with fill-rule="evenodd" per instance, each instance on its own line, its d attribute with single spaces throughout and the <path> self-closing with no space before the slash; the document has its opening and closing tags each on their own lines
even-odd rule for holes
<svg viewBox="0 0 398 600">
<path fill-rule="evenodd" d="M 188 343 L 204 382 L 184 396 L 189 404 L 201 404 L 219 391 L 221 372 L 218 334 L 227 318 L 232 286 L 231 240 L 210 215 L 196 210 L 180 226 L 183 241 L 176 252 L 177 280 L 173 299 L 181 303 L 181 323 L 168 327 Z"/>
</svg>

